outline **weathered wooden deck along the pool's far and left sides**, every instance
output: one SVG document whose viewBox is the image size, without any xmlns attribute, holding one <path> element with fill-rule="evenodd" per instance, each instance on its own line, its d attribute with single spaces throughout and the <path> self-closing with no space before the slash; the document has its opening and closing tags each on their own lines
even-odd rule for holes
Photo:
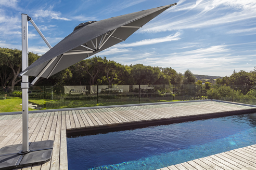
<svg viewBox="0 0 256 170">
<path fill-rule="evenodd" d="M 29 114 L 29 141 L 54 140 L 54 148 L 51 161 L 22 169 L 68 169 L 67 133 L 117 128 L 149 122 L 202 119 L 213 115 L 224 116 L 245 112 L 256 112 L 256 108 L 219 102 L 194 102 Z M 21 143 L 22 115 L 0 116 L 0 148 Z M 233 153 L 233 151 L 230 152 Z M 215 159 L 215 157 L 218 156 L 209 157 L 209 159 Z M 251 158 L 249 154 L 248 158 Z M 204 159 L 208 160 L 208 158 Z M 187 163 L 184 164 L 187 165 Z M 185 167 L 182 168 L 186 169 Z"/>
</svg>

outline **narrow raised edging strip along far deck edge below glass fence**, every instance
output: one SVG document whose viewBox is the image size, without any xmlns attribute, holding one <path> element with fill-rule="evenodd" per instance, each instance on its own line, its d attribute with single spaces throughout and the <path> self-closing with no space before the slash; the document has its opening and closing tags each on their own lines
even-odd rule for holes
<svg viewBox="0 0 256 170">
<path fill-rule="evenodd" d="M 157 103 L 142 103 L 142 104 L 127 104 L 127 105 L 110 105 L 110 106 L 76 107 L 76 108 L 62 108 L 62 109 L 49 109 L 49 110 L 33 110 L 33 111 L 29 111 L 29 114 L 35 114 L 35 113 L 40 113 L 40 112 L 53 112 L 53 111 L 86 110 L 86 109 L 97 109 L 97 108 L 99 109 L 99 108 L 161 105 L 161 104 L 174 104 L 174 103 L 209 102 L 209 101 L 222 102 L 222 103 L 228 103 L 228 104 L 236 104 L 236 105 L 249 106 L 249 107 L 256 107 L 256 105 L 208 99 L 208 100 L 196 100 L 196 101 L 157 102 Z M 0 116 L 2 116 L 2 115 L 18 115 L 18 114 L 22 114 L 22 111 L 1 112 Z"/>
</svg>

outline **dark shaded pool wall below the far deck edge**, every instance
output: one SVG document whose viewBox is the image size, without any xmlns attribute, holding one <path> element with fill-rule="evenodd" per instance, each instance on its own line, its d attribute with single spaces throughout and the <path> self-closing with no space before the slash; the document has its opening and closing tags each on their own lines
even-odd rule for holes
<svg viewBox="0 0 256 170">
<path fill-rule="evenodd" d="M 187 122 L 187 121 L 219 118 L 219 117 L 241 115 L 241 114 L 253 114 L 255 112 L 256 112 L 256 108 L 251 108 L 251 109 L 244 109 L 244 110 L 225 111 L 225 112 L 218 112 L 218 113 L 212 113 L 212 114 L 193 115 L 193 116 L 185 116 L 185 117 L 169 118 L 169 119 L 161 119 L 161 120 L 150 120 L 150 121 L 142 121 L 142 122 L 131 122 L 131 123 L 129 122 L 129 123 L 123 123 L 123 124 L 87 127 L 87 128 L 81 128 L 81 129 L 67 130 L 67 137 L 69 138 L 69 137 L 78 137 L 78 136 L 86 136 L 86 135 L 96 135 L 96 134 L 132 130 L 132 129 L 138 129 L 138 128 L 144 128 L 149 126 L 156 126 L 156 125 L 181 123 L 181 122 Z"/>
</svg>

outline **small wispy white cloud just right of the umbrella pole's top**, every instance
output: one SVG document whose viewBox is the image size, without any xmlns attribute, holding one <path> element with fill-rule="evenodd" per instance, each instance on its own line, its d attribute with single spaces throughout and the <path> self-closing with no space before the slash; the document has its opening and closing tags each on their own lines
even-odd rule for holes
<svg viewBox="0 0 256 170">
<path fill-rule="evenodd" d="M 56 19 L 56 20 L 65 20 L 65 21 L 71 21 L 71 19 L 65 18 L 65 17 L 60 17 L 61 13 L 56 12 L 53 10 L 37 10 L 36 13 L 34 14 L 35 18 L 51 18 L 51 19 Z"/>
</svg>

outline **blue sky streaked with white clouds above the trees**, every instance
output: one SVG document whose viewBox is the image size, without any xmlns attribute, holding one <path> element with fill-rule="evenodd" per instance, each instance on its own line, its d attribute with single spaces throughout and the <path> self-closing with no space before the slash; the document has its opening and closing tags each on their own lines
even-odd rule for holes
<svg viewBox="0 0 256 170">
<path fill-rule="evenodd" d="M 122 64 L 172 67 L 184 73 L 229 76 L 256 66 L 255 0 L 1 0 L 0 47 L 21 49 L 21 13 L 56 45 L 82 22 L 177 3 L 123 43 L 97 55 Z M 29 51 L 48 47 L 29 22 Z"/>
</svg>

